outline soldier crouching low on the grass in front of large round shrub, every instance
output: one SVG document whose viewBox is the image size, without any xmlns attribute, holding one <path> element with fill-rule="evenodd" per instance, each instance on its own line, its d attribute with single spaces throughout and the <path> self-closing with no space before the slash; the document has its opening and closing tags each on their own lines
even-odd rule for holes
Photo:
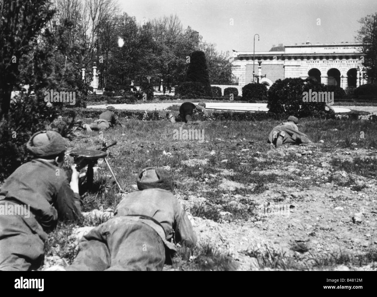
<svg viewBox="0 0 377 297">
<path fill-rule="evenodd" d="M 281 123 L 272 129 L 268 135 L 268 143 L 279 147 L 285 143 L 296 145 L 309 143 L 308 137 L 299 131 L 297 123 L 299 120 L 295 116 L 288 117 L 287 122 Z"/>
</svg>

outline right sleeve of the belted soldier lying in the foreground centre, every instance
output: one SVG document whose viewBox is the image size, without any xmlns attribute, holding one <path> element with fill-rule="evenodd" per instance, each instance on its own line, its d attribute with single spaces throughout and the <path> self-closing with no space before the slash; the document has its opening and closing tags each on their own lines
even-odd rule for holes
<svg viewBox="0 0 377 297">
<path fill-rule="evenodd" d="M 182 242 L 187 247 L 192 247 L 196 245 L 197 238 L 196 234 L 192 228 L 192 224 L 187 217 L 185 211 L 182 209 L 179 202 L 175 201 L 175 241 Z"/>
</svg>

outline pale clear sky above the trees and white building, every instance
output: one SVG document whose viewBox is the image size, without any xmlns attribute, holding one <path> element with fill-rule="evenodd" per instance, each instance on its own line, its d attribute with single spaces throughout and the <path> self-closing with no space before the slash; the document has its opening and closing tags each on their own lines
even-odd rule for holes
<svg viewBox="0 0 377 297">
<path fill-rule="evenodd" d="M 120 10 L 136 17 L 176 14 L 182 26 L 215 43 L 216 49 L 268 51 L 280 43 L 349 43 L 358 20 L 377 12 L 377 0 L 118 0 Z M 233 23 L 233 24 L 232 24 Z"/>
</svg>

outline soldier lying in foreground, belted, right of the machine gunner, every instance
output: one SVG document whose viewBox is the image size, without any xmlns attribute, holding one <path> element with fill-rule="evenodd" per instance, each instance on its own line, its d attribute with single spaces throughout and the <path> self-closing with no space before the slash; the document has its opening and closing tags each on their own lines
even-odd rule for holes
<svg viewBox="0 0 377 297">
<path fill-rule="evenodd" d="M 137 185 L 140 191 L 125 195 L 113 218 L 84 235 L 72 265 L 47 270 L 162 270 L 172 263 L 175 243 L 195 246 L 191 222 L 171 192 L 169 172 L 148 167 Z"/>
</svg>

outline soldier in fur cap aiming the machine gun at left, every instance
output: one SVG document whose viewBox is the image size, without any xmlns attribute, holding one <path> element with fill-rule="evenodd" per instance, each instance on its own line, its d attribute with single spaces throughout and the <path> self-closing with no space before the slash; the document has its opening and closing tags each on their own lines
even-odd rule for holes
<svg viewBox="0 0 377 297">
<path fill-rule="evenodd" d="M 0 215 L 0 270 L 32 270 L 43 263 L 44 242 L 57 221 L 81 217 L 78 172 L 67 181 L 60 166 L 66 140 L 55 131 L 35 133 L 26 148 L 34 160 L 21 165 L 0 188 L 0 213 L 5 206 L 21 210 Z M 25 207 L 29 209 L 25 213 Z M 8 213 L 9 214 L 9 213 Z"/>
</svg>

